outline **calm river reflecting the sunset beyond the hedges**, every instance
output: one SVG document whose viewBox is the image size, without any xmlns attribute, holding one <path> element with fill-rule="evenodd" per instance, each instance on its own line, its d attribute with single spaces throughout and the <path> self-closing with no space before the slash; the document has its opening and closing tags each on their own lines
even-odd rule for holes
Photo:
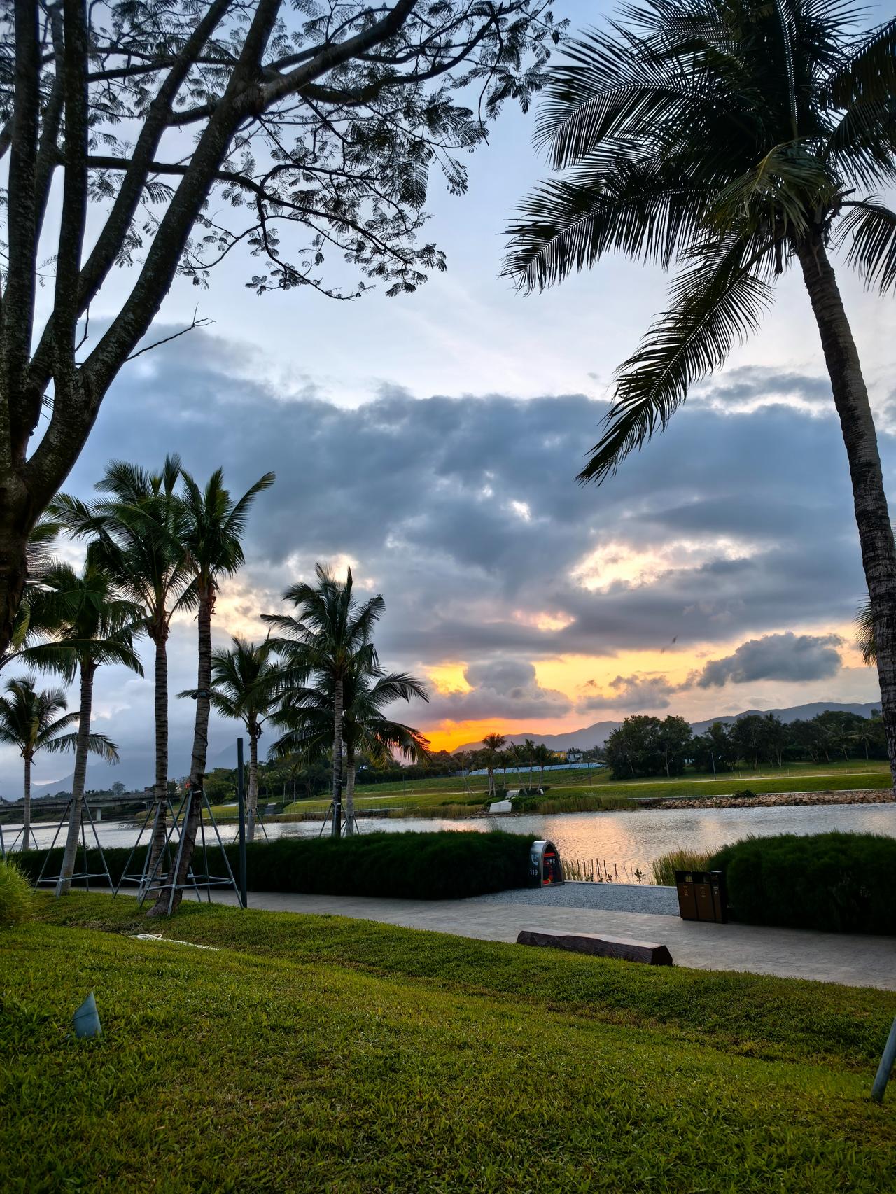
<svg viewBox="0 0 896 1194">
<path fill-rule="evenodd" d="M 561 856 L 600 858 L 613 874 L 627 878 L 634 869 L 649 873 L 653 858 L 669 850 L 688 848 L 713 850 L 729 842 L 753 833 L 769 837 L 773 833 L 826 833 L 831 830 L 853 830 L 861 833 L 884 833 L 896 837 L 896 804 L 884 805 L 780 805 L 772 808 L 639 808 L 628 812 L 554 813 L 553 816 L 471 817 L 465 820 L 437 818 L 364 818 L 362 833 L 385 830 L 389 833 L 412 831 L 431 832 L 438 829 L 484 832 L 503 829 L 511 833 L 528 833 L 533 838 L 550 838 Z M 17 826 L 4 825 L 7 847 Z M 98 825 L 105 847 L 133 845 L 139 825 L 134 821 L 103 821 Z M 272 823 L 270 837 L 315 837 L 317 821 Z M 45 849 L 56 832 L 55 826 L 39 825 L 35 830 L 38 847 Z M 221 826 L 225 841 L 237 837 L 237 826 L 227 821 Z M 60 843 L 62 836 L 60 835 Z M 146 835 L 143 837 L 146 841 Z M 57 844 L 60 844 L 57 843 Z"/>
</svg>

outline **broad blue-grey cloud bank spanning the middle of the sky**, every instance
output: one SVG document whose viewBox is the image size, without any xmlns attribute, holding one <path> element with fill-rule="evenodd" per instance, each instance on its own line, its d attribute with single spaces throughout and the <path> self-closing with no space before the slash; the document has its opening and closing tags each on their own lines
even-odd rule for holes
<svg viewBox="0 0 896 1194">
<path fill-rule="evenodd" d="M 315 559 L 357 560 L 357 574 L 387 601 L 380 645 L 391 665 L 468 665 L 473 691 L 436 696 L 429 720 L 561 715 L 570 701 L 536 684 L 532 660 L 673 638 L 680 647 L 749 640 L 710 663 L 702 687 L 834 675 L 835 640 L 766 638 L 849 618 L 864 587 L 845 451 L 817 377 L 732 371 L 616 478 L 583 490 L 575 474 L 605 411 L 585 396 L 416 400 L 383 387 L 349 410 L 308 384 L 283 396 L 247 377 L 250 368 L 247 353 L 207 333 L 141 357 L 106 400 L 67 487 L 87 494 L 110 457 L 157 464 L 167 450 L 201 476 L 222 464 L 234 488 L 275 469 L 277 484 L 252 516 L 243 583 L 270 608 Z M 769 393 L 778 405 L 744 413 Z M 882 449 L 891 466 L 886 436 Z M 656 577 L 594 590 L 571 579 L 589 556 L 600 570 L 602 550 L 619 543 L 656 558 Z M 191 683 L 186 632 L 172 691 Z M 111 698 L 123 682 L 110 670 L 100 690 Z M 135 701 L 129 684 L 128 708 L 103 728 L 148 782 L 143 688 Z M 662 707 L 673 694 L 662 677 L 645 687 L 619 676 L 610 695 L 634 710 Z M 599 701 L 607 703 L 585 693 L 578 708 Z M 180 774 L 189 757 L 180 702 L 172 716 L 171 768 Z M 213 756 L 233 737 L 217 725 Z M 13 759 L 4 759 L 2 774 L 17 775 Z"/>
</svg>

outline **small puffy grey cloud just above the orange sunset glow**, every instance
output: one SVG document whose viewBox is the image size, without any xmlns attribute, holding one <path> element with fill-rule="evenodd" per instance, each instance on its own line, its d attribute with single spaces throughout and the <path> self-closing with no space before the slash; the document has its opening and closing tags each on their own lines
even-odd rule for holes
<svg viewBox="0 0 896 1194">
<path fill-rule="evenodd" d="M 572 709 L 563 693 L 542 688 L 524 659 L 501 658 L 471 664 L 464 672 L 468 690 L 440 693 L 428 715 L 453 721 L 481 718 L 559 718 Z"/>
</svg>

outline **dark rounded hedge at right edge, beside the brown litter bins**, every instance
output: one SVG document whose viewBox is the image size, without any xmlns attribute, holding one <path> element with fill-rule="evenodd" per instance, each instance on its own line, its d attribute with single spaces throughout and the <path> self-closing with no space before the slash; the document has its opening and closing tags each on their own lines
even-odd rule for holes
<svg viewBox="0 0 896 1194">
<path fill-rule="evenodd" d="M 896 935 L 896 838 L 876 833 L 748 837 L 708 862 L 748 924 Z"/>
</svg>

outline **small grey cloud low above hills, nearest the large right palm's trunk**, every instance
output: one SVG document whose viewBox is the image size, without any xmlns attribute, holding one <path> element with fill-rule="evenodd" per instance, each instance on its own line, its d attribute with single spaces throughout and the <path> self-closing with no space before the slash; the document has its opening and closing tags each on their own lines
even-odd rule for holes
<svg viewBox="0 0 896 1194">
<path fill-rule="evenodd" d="M 842 665 L 837 634 L 767 634 L 742 642 L 734 654 L 713 659 L 696 678 L 700 688 L 723 684 L 749 684 L 759 679 L 783 679 L 791 683 L 827 679 Z"/>
</svg>

